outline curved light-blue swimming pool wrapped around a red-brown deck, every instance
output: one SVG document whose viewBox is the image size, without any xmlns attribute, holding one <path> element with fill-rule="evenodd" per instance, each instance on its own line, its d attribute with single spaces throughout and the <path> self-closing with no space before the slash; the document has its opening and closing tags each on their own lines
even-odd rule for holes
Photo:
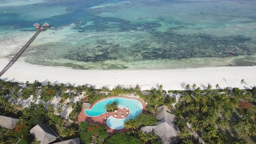
<svg viewBox="0 0 256 144">
<path fill-rule="evenodd" d="M 143 105 L 141 104 L 140 101 L 136 99 L 131 99 L 131 98 L 118 97 L 118 98 L 107 98 L 102 101 L 99 101 L 90 110 L 85 110 L 85 115 L 88 115 L 91 117 L 102 115 L 106 111 L 105 105 L 111 104 L 114 101 L 118 103 L 119 108 L 120 107 L 129 108 L 130 114 L 128 115 L 127 118 L 123 118 L 123 119 L 118 119 L 110 116 L 107 119 L 107 125 L 109 128 L 112 128 L 112 129 L 124 128 L 125 121 L 127 121 L 128 119 L 135 119 L 135 117 L 137 115 L 140 115 L 143 110 Z"/>
</svg>

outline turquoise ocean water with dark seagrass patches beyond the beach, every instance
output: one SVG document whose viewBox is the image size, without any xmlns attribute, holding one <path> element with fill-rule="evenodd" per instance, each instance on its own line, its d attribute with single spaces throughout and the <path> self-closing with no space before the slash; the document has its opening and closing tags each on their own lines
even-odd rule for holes
<svg viewBox="0 0 256 144">
<path fill-rule="evenodd" d="M 256 65 L 255 0 L 0 0 L 0 59 L 72 69 Z M 228 51 L 234 51 L 231 55 Z"/>
</svg>

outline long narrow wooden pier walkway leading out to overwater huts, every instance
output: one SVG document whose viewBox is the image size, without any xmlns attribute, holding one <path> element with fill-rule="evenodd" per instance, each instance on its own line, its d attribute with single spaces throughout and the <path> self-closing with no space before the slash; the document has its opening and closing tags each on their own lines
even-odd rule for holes
<svg viewBox="0 0 256 144">
<path fill-rule="evenodd" d="M 26 50 L 26 48 L 30 45 L 30 43 L 33 42 L 33 40 L 36 38 L 36 36 L 40 33 L 40 30 L 37 30 L 36 33 L 30 38 L 30 40 L 20 49 L 18 53 L 13 57 L 12 60 L 3 68 L 3 70 L 0 72 L 0 77 L 4 74 L 4 72 L 7 71 L 7 69 L 10 68 L 10 66 L 21 56 L 21 54 Z"/>
</svg>

